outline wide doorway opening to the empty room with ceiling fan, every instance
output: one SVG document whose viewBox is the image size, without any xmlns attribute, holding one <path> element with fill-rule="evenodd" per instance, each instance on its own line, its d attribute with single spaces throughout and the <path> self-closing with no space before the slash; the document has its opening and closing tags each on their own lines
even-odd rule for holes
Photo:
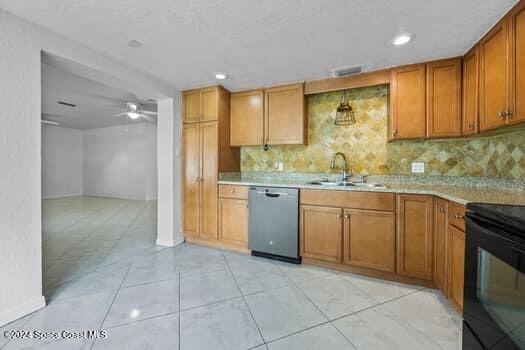
<svg viewBox="0 0 525 350">
<path fill-rule="evenodd" d="M 42 61 L 48 301 L 116 290 L 158 249 L 156 114 L 154 99 Z"/>
</svg>

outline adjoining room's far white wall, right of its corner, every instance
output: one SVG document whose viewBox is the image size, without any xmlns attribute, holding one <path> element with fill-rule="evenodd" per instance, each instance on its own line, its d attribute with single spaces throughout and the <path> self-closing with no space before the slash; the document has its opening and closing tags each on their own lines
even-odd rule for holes
<svg viewBox="0 0 525 350">
<path fill-rule="evenodd" d="M 156 198 L 157 128 L 141 123 L 84 131 L 84 195 Z"/>
</svg>

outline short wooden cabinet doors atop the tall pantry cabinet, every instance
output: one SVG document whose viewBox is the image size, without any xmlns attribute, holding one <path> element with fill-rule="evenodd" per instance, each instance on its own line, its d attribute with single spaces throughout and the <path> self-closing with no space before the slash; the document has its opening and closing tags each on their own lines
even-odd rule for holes
<svg viewBox="0 0 525 350">
<path fill-rule="evenodd" d="M 184 91 L 182 110 L 184 123 L 214 121 L 218 118 L 219 87 Z"/>
</svg>

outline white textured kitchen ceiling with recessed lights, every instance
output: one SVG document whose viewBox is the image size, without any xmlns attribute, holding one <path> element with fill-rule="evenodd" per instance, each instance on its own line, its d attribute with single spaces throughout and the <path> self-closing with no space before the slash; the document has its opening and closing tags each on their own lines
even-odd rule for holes
<svg viewBox="0 0 525 350">
<path fill-rule="evenodd" d="M 461 55 L 516 0 L 0 0 L 0 7 L 179 87 L 232 90 Z M 390 42 L 414 33 L 404 47 Z M 144 45 L 127 46 L 131 39 Z"/>
</svg>

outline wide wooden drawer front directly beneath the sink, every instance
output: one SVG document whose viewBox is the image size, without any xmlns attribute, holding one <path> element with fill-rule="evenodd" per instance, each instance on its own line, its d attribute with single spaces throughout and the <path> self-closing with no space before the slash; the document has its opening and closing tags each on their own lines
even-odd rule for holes
<svg viewBox="0 0 525 350">
<path fill-rule="evenodd" d="M 301 190 L 301 204 L 394 211 L 395 194 L 332 190 Z"/>
</svg>

